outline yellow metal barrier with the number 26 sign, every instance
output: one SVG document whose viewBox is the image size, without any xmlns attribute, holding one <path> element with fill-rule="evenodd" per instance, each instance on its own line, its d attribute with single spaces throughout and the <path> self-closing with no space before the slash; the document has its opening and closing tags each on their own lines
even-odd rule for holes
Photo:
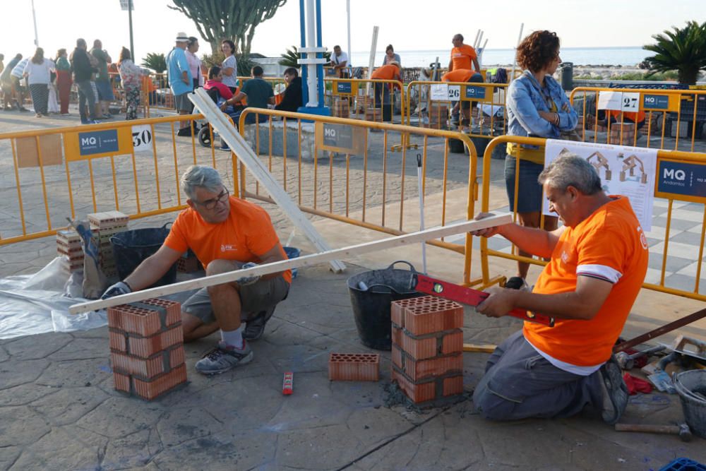
<svg viewBox="0 0 706 471">
<path fill-rule="evenodd" d="M 472 137 L 492 139 L 507 133 L 505 121 L 505 83 L 413 81 L 407 85 L 407 124 L 409 126 L 446 129 L 448 114 L 455 106 L 470 102 L 465 122 L 458 110 L 458 130 L 467 129 Z M 413 109 L 413 103 L 416 109 Z M 479 107 L 474 106 L 477 103 Z M 482 110 L 482 114 L 481 111 Z M 412 122 L 412 115 L 417 121 Z"/>
</svg>

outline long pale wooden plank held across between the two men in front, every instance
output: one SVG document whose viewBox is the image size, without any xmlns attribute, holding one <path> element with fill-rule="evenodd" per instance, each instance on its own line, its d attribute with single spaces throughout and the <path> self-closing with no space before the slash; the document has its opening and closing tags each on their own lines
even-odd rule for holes
<svg viewBox="0 0 706 471">
<path fill-rule="evenodd" d="M 330 250 L 321 254 L 306 255 L 299 258 L 292 258 L 291 260 L 283 260 L 267 263 L 266 265 L 260 265 L 253 268 L 246 268 L 245 270 L 235 270 L 228 273 L 220 273 L 218 275 L 198 278 L 196 280 L 181 281 L 172 285 L 159 286 L 156 288 L 150 288 L 149 290 L 123 294 L 121 296 L 116 296 L 109 299 L 99 299 L 97 301 L 74 304 L 68 309 L 68 311 L 71 314 L 78 314 L 85 311 L 105 309 L 107 307 L 118 306 L 119 304 L 126 304 L 128 302 L 142 301 L 143 299 L 160 297 L 167 294 L 196 290 L 198 288 L 214 285 L 222 285 L 223 283 L 232 282 L 246 276 L 268 275 L 270 273 L 289 270 L 291 268 L 300 268 L 328 262 L 335 258 L 350 258 L 361 254 L 369 254 L 374 251 L 393 249 L 400 246 L 412 246 L 412 244 L 418 244 L 419 242 L 432 239 L 439 239 L 441 237 L 449 237 L 453 234 L 460 234 L 462 232 L 486 229 L 486 227 L 496 227 L 510 224 L 512 220 L 512 216 L 505 213 L 501 215 L 492 215 L 491 217 L 486 217 L 485 219 L 479 221 L 455 222 L 442 227 L 433 227 L 424 231 L 412 232 L 411 234 L 404 234 L 401 236 L 389 237 L 388 239 L 347 246 L 342 249 Z"/>
</svg>

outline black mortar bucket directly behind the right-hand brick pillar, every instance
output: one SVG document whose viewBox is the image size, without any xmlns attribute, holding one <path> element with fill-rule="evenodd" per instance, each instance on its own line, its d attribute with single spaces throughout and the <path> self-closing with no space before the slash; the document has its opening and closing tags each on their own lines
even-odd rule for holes
<svg viewBox="0 0 706 471">
<path fill-rule="evenodd" d="M 411 270 L 398 270 L 395 263 L 407 263 Z M 423 296 L 409 288 L 412 274 L 417 273 L 412 263 L 398 260 L 384 270 L 371 270 L 348 278 L 355 326 L 360 340 L 375 350 L 392 349 L 390 304 L 398 299 Z M 361 287 L 364 283 L 366 289 Z"/>
</svg>

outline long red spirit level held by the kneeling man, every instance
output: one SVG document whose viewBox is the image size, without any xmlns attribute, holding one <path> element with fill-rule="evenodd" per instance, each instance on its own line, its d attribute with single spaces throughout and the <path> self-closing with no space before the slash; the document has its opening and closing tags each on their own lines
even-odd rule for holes
<svg viewBox="0 0 706 471">
<path fill-rule="evenodd" d="M 412 283 L 410 288 L 421 293 L 432 294 L 433 296 L 443 297 L 451 301 L 468 304 L 469 306 L 477 306 L 489 297 L 488 293 L 474 290 L 465 286 L 454 285 L 453 283 L 437 280 L 419 273 L 412 274 Z M 554 318 L 545 316 L 544 314 L 536 314 L 524 309 L 513 309 L 508 312 L 508 316 L 513 316 L 523 321 L 536 322 L 544 324 L 544 326 L 554 327 Z"/>
</svg>

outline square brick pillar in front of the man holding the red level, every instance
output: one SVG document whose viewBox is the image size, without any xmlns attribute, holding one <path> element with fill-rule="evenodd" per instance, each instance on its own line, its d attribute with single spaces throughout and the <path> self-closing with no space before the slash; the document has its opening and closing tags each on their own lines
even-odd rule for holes
<svg viewBox="0 0 706 471">
<path fill-rule="evenodd" d="M 392 378 L 415 404 L 463 392 L 463 307 L 433 296 L 392 303 Z"/>
</svg>

